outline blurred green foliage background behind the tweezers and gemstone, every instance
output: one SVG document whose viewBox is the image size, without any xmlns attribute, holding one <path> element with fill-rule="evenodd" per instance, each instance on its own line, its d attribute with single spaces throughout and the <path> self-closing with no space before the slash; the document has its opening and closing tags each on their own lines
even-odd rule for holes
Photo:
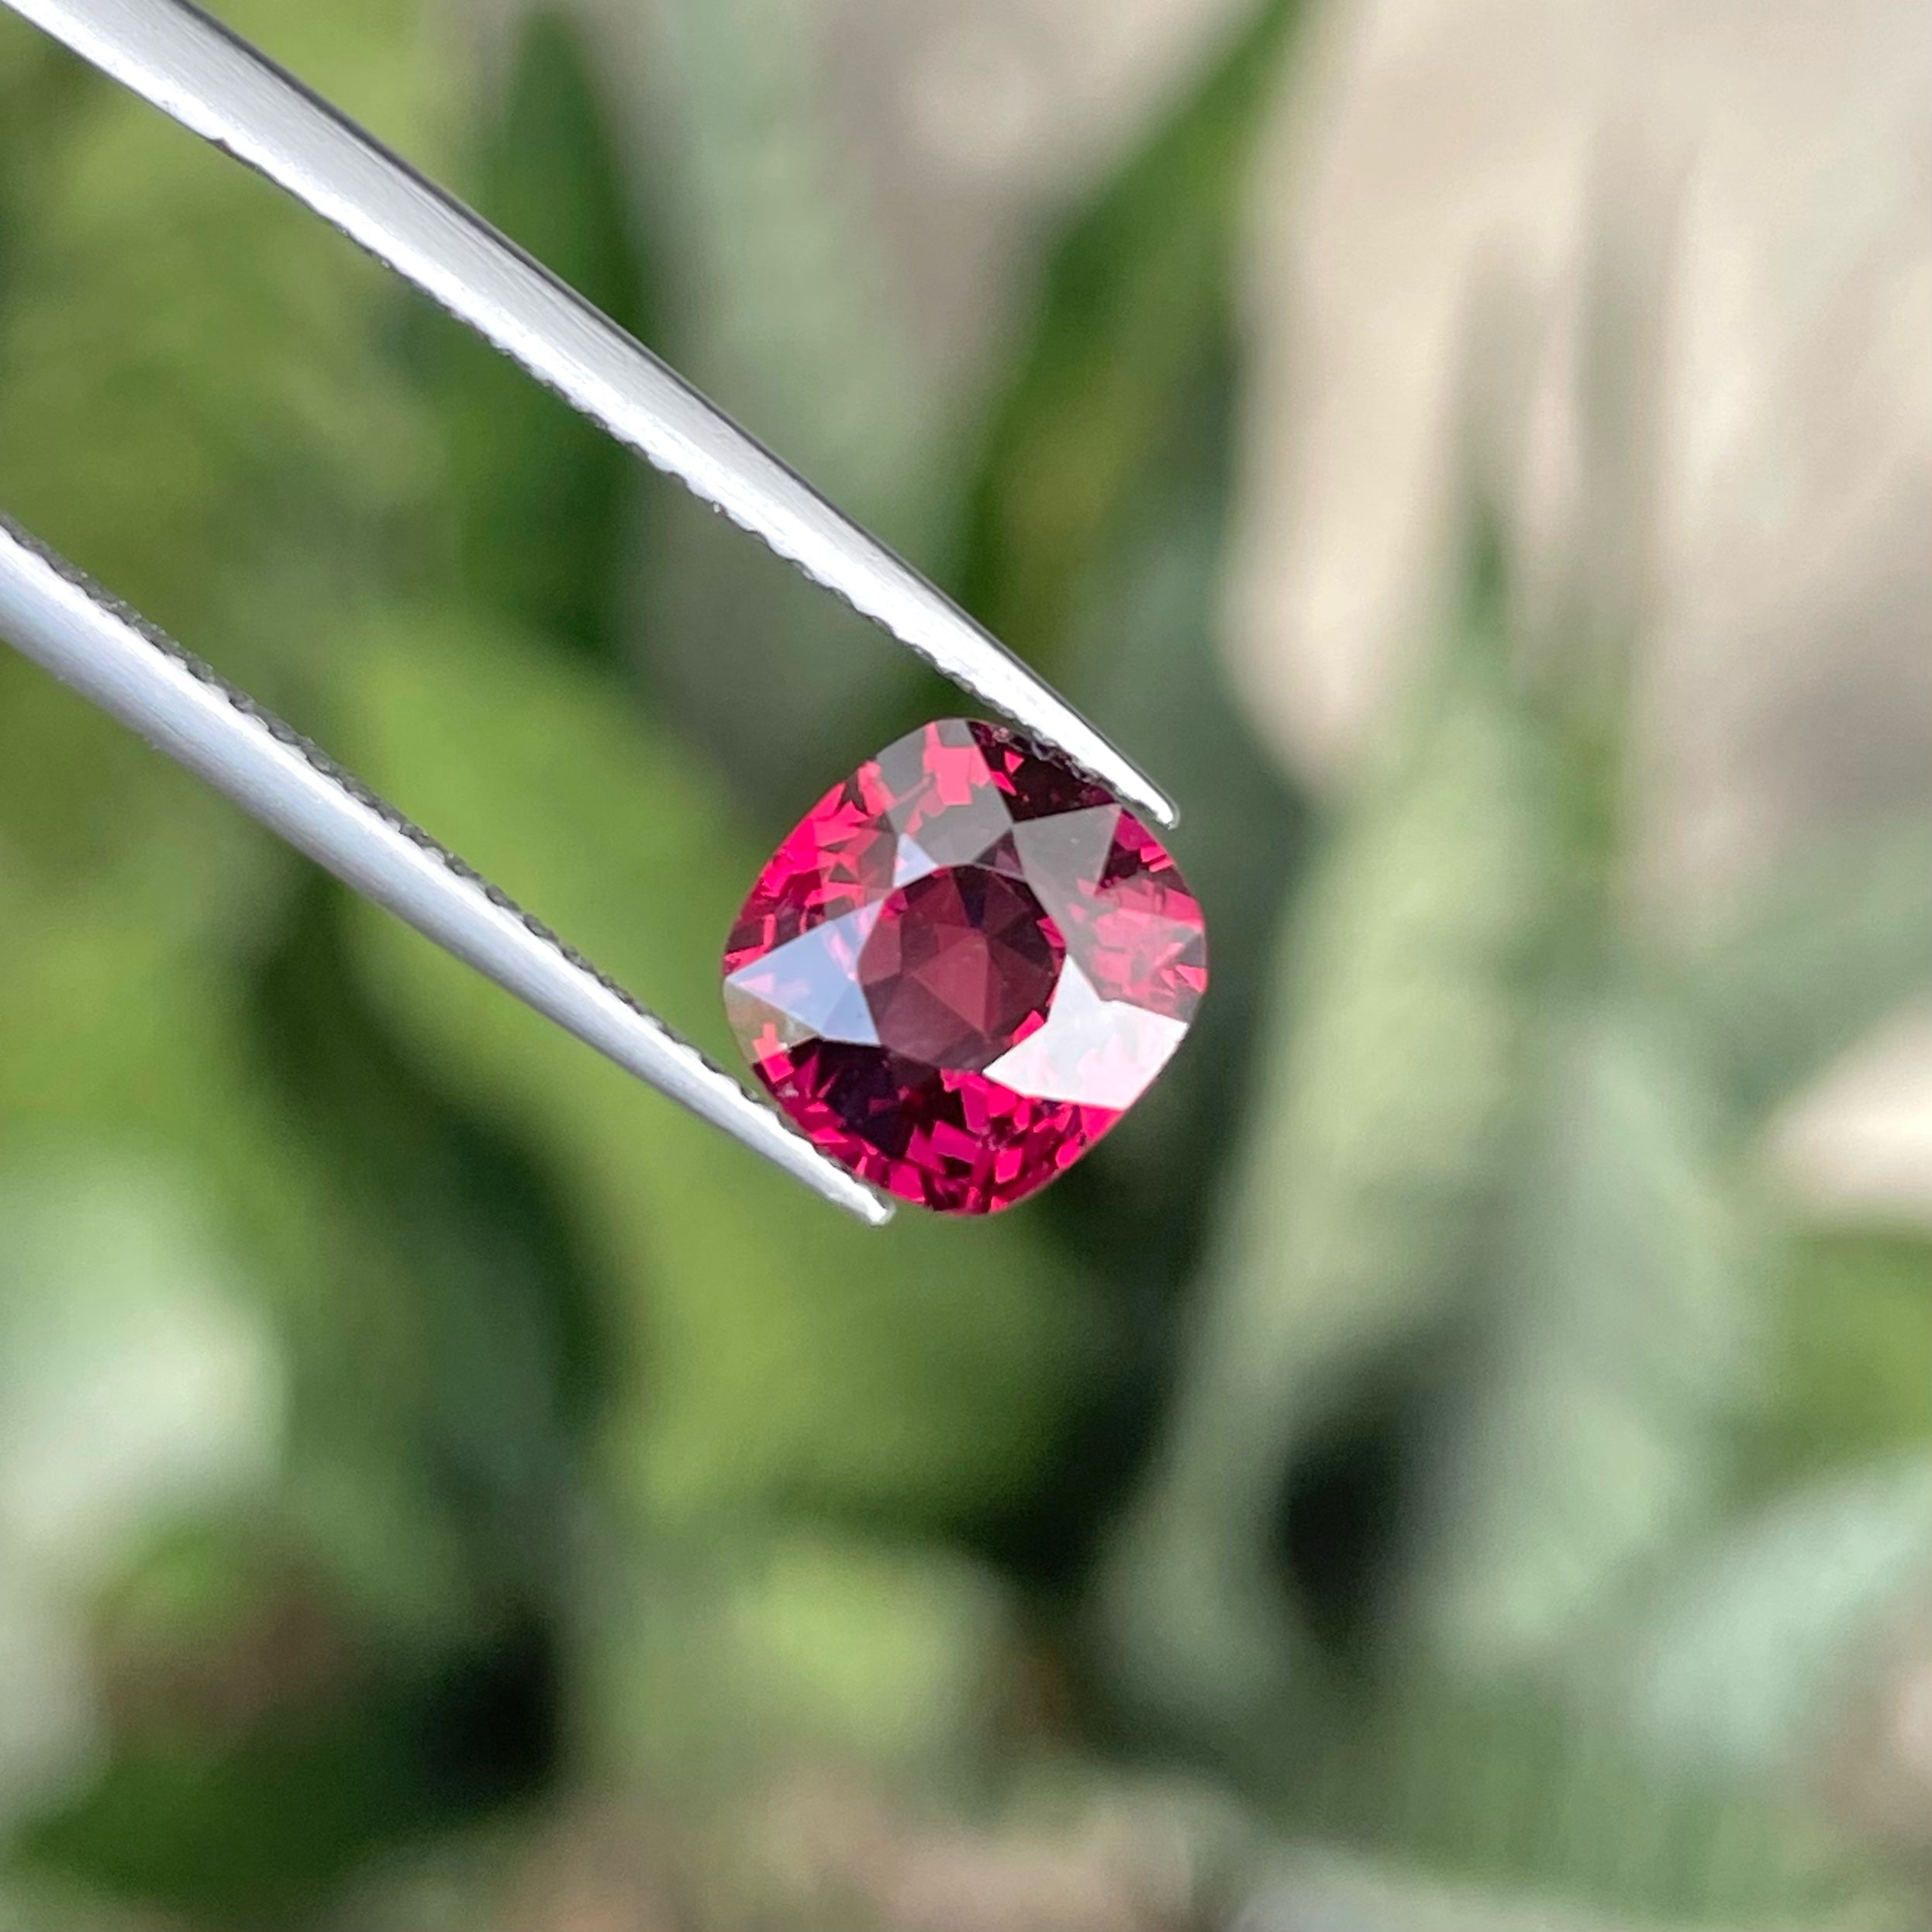
<svg viewBox="0 0 1932 1932">
<path fill-rule="evenodd" d="M 1555 537 L 1507 255 L 1457 313 L 1405 641 L 1335 605 L 1387 668 L 1302 755 L 1269 560 L 1323 452 L 1401 468 L 1302 408 L 1308 236 L 1482 191 L 1294 184 L 1360 114 L 1474 153 L 1505 62 L 1383 99 L 1337 48 L 1401 10 L 1314 0 L 222 12 L 1169 782 L 1215 983 L 1047 1196 L 871 1235 L 0 653 L 0 1928 L 1926 1926 L 1932 1208 L 1806 1113 L 1932 981 L 1922 771 L 1658 885 L 1660 707 L 1770 680 L 1747 626 L 1731 713 L 1658 696 L 1660 570 L 1735 574 L 1663 456 L 1700 162 L 1586 170 Z M 1704 12 L 1692 91 L 1762 52 Z M 895 60 L 956 193 L 881 162 Z M 1833 232 L 1816 408 L 1891 419 L 1917 311 Z M 1360 280 L 1333 394 L 1399 396 Z M 0 504 L 719 1055 L 761 854 L 958 703 L 12 15 Z M 1868 771 L 1832 609 L 1799 736 Z"/>
</svg>

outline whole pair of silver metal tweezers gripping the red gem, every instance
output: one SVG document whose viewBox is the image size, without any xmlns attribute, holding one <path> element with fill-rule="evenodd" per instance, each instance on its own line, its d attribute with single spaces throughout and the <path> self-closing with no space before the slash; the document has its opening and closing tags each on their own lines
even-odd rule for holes
<svg viewBox="0 0 1932 1932">
<path fill-rule="evenodd" d="M 589 301 L 187 0 L 4 0 L 284 187 L 618 442 L 1128 804 L 1167 796 L 951 599 Z M 0 636 L 545 1018 L 873 1225 L 891 1206 L 487 879 L 0 518 Z"/>
</svg>

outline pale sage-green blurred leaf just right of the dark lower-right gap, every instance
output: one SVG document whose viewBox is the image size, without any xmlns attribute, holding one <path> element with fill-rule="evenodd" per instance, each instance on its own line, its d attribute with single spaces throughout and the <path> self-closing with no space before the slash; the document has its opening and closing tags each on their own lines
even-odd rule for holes
<svg viewBox="0 0 1932 1932">
<path fill-rule="evenodd" d="M 1700 1070 L 1613 993 L 1548 1022 L 1397 1646 L 1509 1673 L 1698 1532 L 1764 1385 L 1762 1256 Z"/>
</svg>

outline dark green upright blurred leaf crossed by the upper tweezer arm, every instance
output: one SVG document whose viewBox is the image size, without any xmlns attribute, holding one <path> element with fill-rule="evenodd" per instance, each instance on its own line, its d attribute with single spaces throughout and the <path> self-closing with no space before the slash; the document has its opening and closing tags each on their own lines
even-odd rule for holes
<svg viewBox="0 0 1932 1932">
<path fill-rule="evenodd" d="M 520 29 L 473 164 L 475 205 L 620 327 L 649 340 L 643 265 L 591 52 L 562 14 Z M 425 313 L 466 595 L 599 659 L 618 655 L 616 564 L 636 460 L 495 348 Z"/>
</svg>

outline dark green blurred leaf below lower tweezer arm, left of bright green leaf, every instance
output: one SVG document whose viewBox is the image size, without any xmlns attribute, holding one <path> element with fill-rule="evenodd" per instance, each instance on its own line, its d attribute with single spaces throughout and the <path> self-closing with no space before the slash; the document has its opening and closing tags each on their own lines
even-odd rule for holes
<svg viewBox="0 0 1932 1932">
<path fill-rule="evenodd" d="M 259 1066 L 301 1121 L 342 1223 L 398 1277 L 408 1374 L 388 1391 L 390 1455 L 406 1472 L 437 1472 L 452 1530 L 497 1592 L 547 1604 L 572 1455 L 603 1385 L 593 1269 L 551 1177 L 500 1124 L 439 1092 L 413 1043 L 373 1010 L 346 908 L 348 895 L 311 875 L 255 983 Z M 330 1410 L 354 1401 L 315 1393 Z M 379 1480 L 367 1470 L 359 1484 L 377 1520 Z M 313 1480 L 305 1507 L 352 1557 L 342 1532 L 355 1524 Z"/>
</svg>

